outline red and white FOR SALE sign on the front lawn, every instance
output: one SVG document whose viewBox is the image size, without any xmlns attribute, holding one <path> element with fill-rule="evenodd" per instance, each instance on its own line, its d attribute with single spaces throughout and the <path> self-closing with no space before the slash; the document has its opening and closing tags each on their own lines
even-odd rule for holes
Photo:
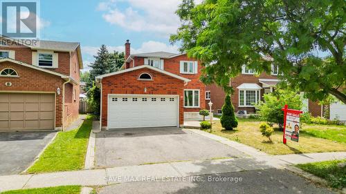
<svg viewBox="0 0 346 194">
<path fill-rule="evenodd" d="M 284 135 L 282 142 L 287 143 L 287 138 L 293 142 L 298 142 L 300 130 L 300 114 L 302 110 L 289 109 L 287 104 L 284 105 Z"/>
</svg>

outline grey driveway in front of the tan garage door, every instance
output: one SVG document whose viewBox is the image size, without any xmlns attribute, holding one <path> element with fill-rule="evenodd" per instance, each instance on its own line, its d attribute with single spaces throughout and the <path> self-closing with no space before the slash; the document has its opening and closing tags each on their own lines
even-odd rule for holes
<svg viewBox="0 0 346 194">
<path fill-rule="evenodd" d="M 55 132 L 0 133 L 0 175 L 24 171 L 54 135 Z"/>
</svg>

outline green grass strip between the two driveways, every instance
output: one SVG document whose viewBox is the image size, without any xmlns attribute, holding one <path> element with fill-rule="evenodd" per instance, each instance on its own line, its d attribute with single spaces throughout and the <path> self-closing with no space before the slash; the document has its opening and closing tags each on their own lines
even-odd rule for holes
<svg viewBox="0 0 346 194">
<path fill-rule="evenodd" d="M 82 169 L 92 126 L 93 117 L 88 115 L 79 128 L 68 132 L 59 132 L 54 142 L 46 148 L 27 173 Z"/>
</svg>

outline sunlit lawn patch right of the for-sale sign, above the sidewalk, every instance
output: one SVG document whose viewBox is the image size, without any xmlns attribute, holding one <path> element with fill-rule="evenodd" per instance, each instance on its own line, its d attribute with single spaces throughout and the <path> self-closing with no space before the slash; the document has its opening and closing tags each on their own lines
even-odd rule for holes
<svg viewBox="0 0 346 194">
<path fill-rule="evenodd" d="M 301 133 L 313 137 L 329 139 L 335 142 L 346 143 L 346 126 L 304 124 L 302 128 Z"/>
</svg>

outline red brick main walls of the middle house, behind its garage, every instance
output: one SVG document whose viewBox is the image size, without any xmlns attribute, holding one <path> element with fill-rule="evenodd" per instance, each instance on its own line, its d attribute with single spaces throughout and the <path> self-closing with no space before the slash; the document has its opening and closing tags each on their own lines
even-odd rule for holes
<svg viewBox="0 0 346 194">
<path fill-rule="evenodd" d="M 184 112 L 198 112 L 199 110 L 206 107 L 206 86 L 199 81 L 199 77 L 201 76 L 201 62 L 198 62 L 198 72 L 197 74 L 181 74 L 180 73 L 180 61 L 196 61 L 195 59 L 188 58 L 187 55 L 179 55 L 178 57 L 174 57 L 172 59 L 164 59 L 163 70 L 167 72 L 172 72 L 175 75 L 179 75 L 181 77 L 185 77 L 190 79 L 191 81 L 187 86 L 184 86 L 184 89 L 194 89 L 199 90 L 199 107 L 200 108 L 184 108 Z M 144 65 L 143 57 L 134 57 L 135 66 Z"/>
</svg>

